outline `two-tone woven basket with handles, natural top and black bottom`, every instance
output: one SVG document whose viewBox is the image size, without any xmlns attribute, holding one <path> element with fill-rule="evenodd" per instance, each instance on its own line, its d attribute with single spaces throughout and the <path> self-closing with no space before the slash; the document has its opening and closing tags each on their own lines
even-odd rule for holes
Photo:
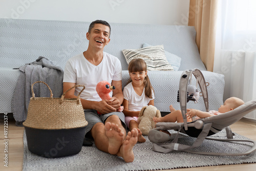
<svg viewBox="0 0 256 171">
<path fill-rule="evenodd" d="M 46 84 L 50 97 L 35 97 L 33 86 L 39 82 Z M 68 91 L 76 87 L 83 87 L 77 98 L 64 98 Z M 47 83 L 36 81 L 32 84 L 28 116 L 23 123 L 30 152 L 53 158 L 75 155 L 81 151 L 88 124 L 80 101 L 84 89 L 84 86 L 76 85 L 63 93 L 61 98 L 53 98 Z"/>
</svg>

